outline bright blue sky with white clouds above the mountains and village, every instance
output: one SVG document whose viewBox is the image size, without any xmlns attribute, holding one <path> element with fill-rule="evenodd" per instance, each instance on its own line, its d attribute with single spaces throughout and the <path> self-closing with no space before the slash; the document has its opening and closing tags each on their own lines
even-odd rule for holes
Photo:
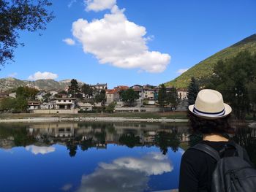
<svg viewBox="0 0 256 192">
<path fill-rule="evenodd" d="M 159 85 L 256 33 L 255 0 L 53 0 L 51 9 L 42 36 L 20 34 L 25 46 L 0 77 Z"/>
</svg>

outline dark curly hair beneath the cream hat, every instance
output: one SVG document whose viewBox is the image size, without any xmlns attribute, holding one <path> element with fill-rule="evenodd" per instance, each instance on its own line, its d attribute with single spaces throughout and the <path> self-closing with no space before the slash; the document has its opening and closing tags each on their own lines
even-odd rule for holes
<svg viewBox="0 0 256 192">
<path fill-rule="evenodd" d="M 233 134 L 234 129 L 230 126 L 230 115 L 219 119 L 204 119 L 188 113 L 189 123 L 192 132 L 197 134 Z"/>
</svg>

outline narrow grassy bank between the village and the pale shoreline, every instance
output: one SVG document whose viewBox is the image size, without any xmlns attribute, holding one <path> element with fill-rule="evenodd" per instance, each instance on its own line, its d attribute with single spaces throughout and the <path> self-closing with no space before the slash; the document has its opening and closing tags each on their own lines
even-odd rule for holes
<svg viewBox="0 0 256 192">
<path fill-rule="evenodd" d="M 187 112 L 122 112 L 122 113 L 83 113 L 83 114 L 34 114 L 34 113 L 2 113 L 1 119 L 10 118 L 79 118 L 79 117 L 120 117 L 120 118 L 178 118 L 187 119 Z"/>
</svg>

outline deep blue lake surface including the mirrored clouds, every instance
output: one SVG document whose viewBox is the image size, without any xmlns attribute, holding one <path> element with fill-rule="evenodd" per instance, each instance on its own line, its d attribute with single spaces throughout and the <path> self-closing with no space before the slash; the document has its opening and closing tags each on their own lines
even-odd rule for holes
<svg viewBox="0 0 256 192">
<path fill-rule="evenodd" d="M 182 153 L 181 148 L 173 152 L 167 147 L 163 155 L 155 145 L 127 147 L 120 143 L 105 143 L 104 147 L 89 147 L 84 151 L 78 146 L 72 156 L 64 142 L 1 147 L 0 189 L 3 192 L 170 190 L 178 188 Z"/>
</svg>

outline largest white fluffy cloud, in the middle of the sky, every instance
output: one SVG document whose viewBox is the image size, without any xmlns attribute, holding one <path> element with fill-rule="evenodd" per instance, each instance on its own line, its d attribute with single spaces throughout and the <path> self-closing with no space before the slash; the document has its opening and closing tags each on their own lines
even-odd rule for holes
<svg viewBox="0 0 256 192">
<path fill-rule="evenodd" d="M 163 72 L 170 63 L 170 55 L 148 50 L 151 37 L 146 37 L 146 28 L 127 20 L 124 9 L 116 5 L 100 20 L 78 19 L 72 24 L 72 34 L 100 64 Z"/>
</svg>

